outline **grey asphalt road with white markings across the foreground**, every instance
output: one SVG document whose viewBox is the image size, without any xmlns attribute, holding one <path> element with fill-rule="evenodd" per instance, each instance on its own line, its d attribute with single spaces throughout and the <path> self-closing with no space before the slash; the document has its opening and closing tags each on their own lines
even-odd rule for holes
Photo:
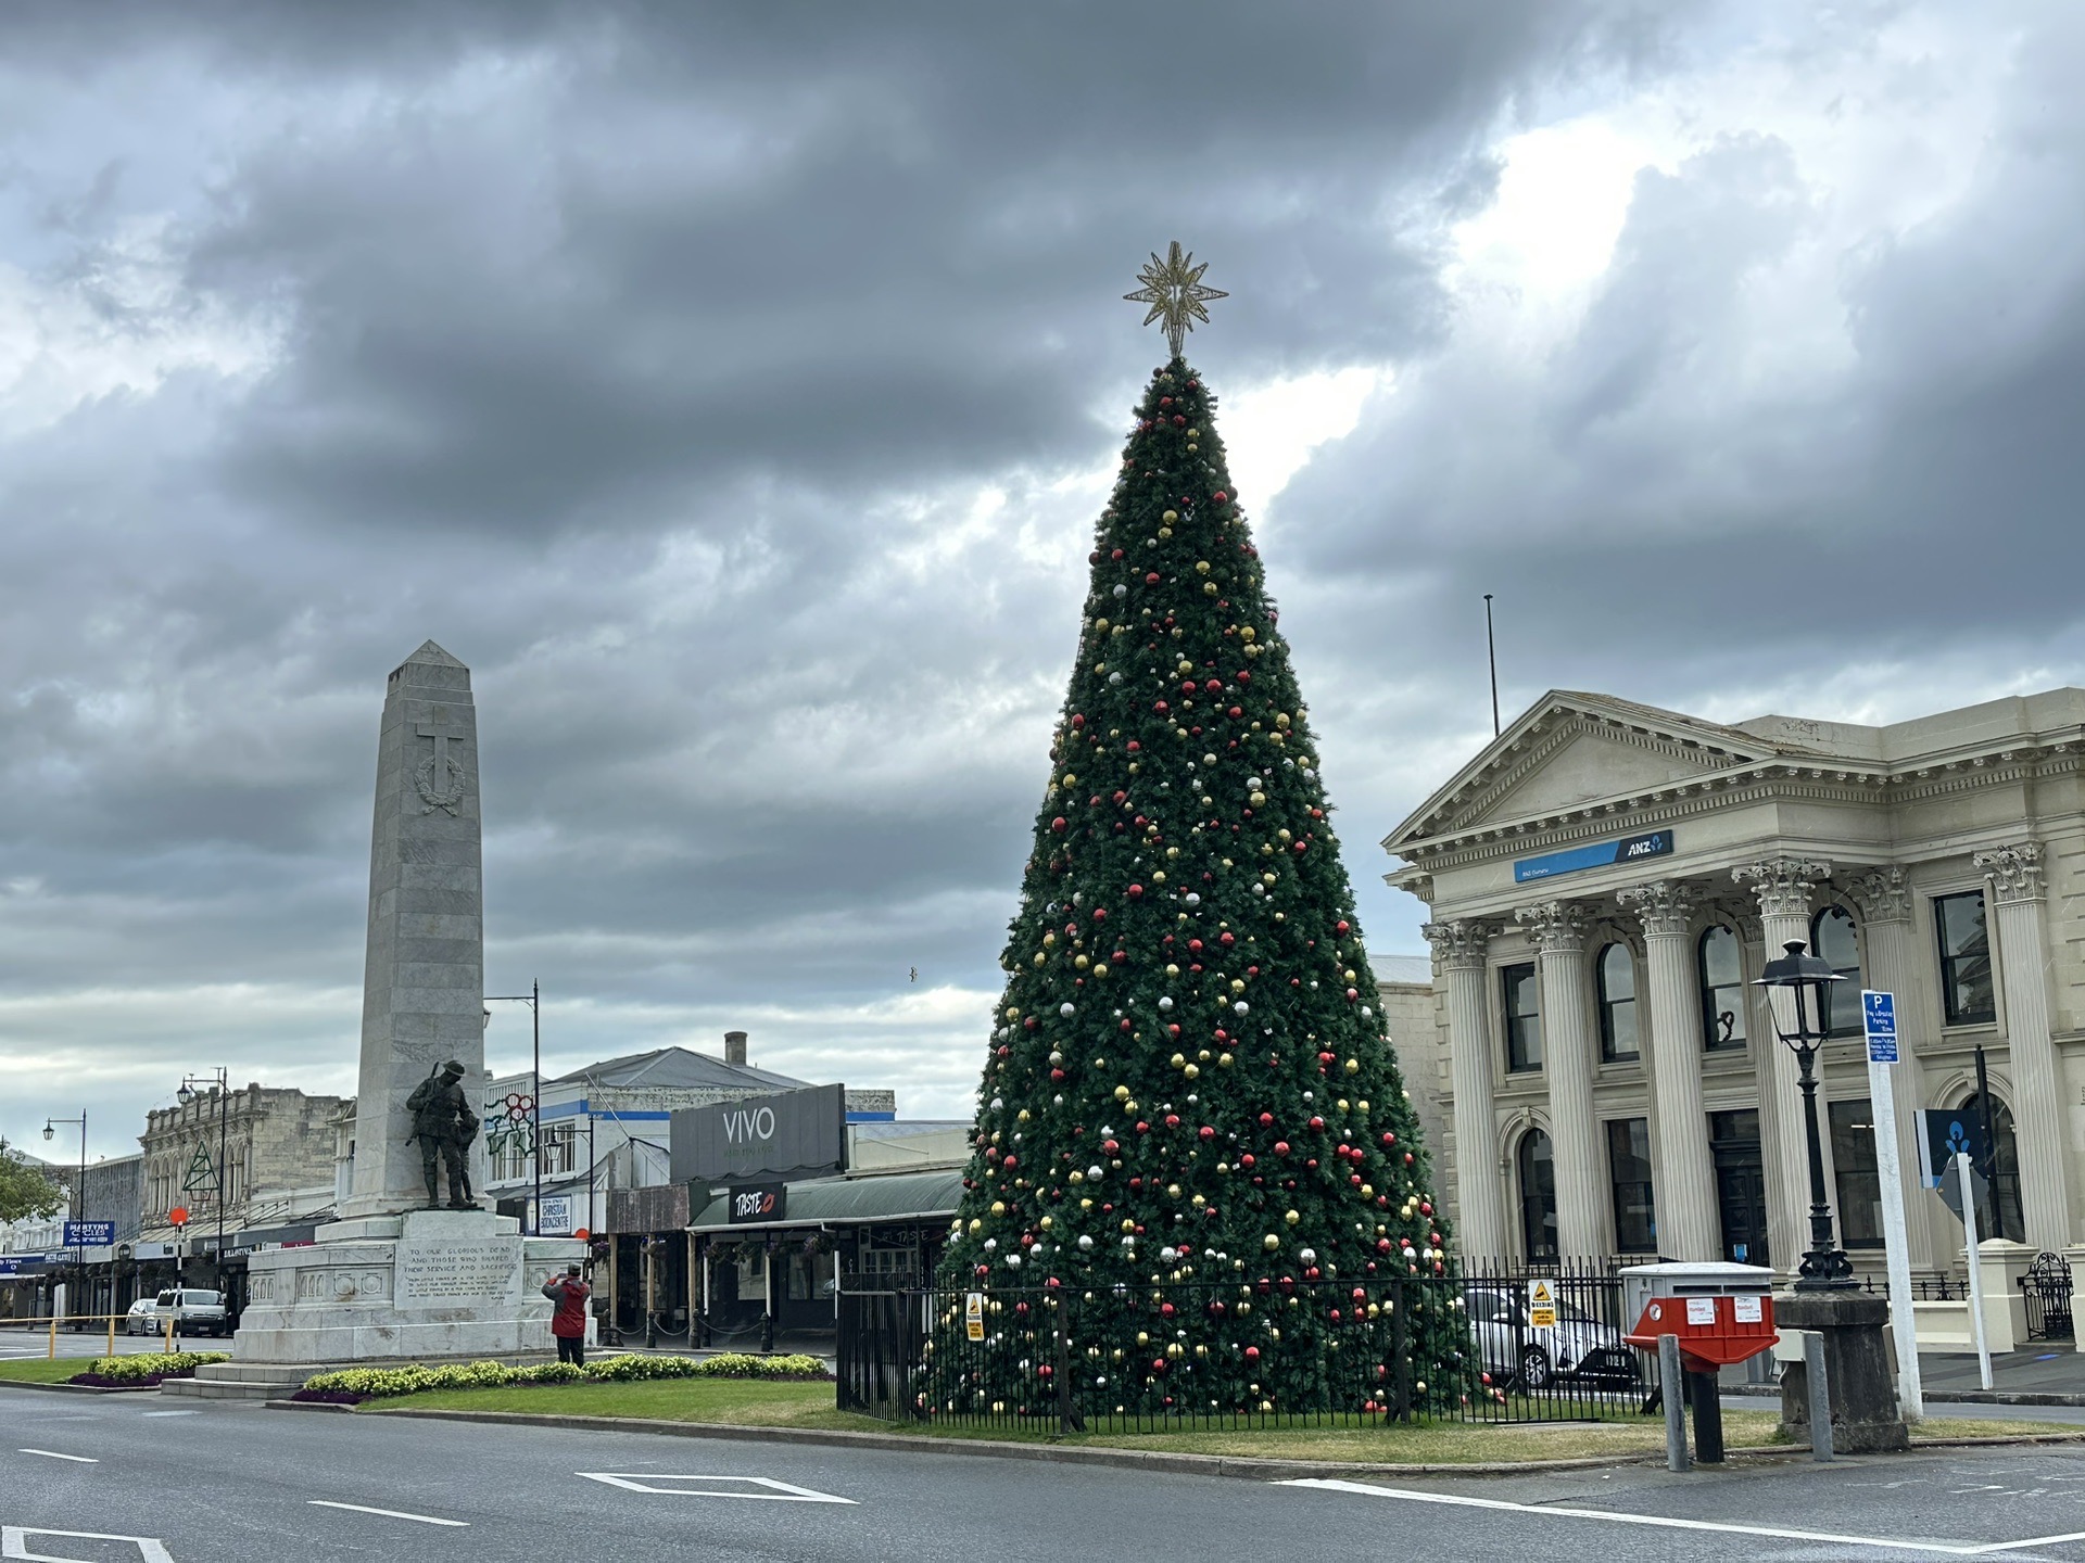
<svg viewBox="0 0 2085 1563">
<path fill-rule="evenodd" d="M 8 1388 L 0 1430 L 10 1559 L 2085 1563 L 2072 1448 L 1270 1484 Z"/>
</svg>

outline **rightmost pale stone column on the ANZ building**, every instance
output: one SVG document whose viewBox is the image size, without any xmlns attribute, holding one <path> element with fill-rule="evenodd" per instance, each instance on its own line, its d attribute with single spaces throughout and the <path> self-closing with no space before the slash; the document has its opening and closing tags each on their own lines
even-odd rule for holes
<svg viewBox="0 0 2085 1563">
<path fill-rule="evenodd" d="M 2070 1230 L 2064 1186 L 2064 1098 L 2050 1040 L 2047 944 L 2041 936 L 2041 848 L 2000 846 L 1970 859 L 1997 892 L 1995 948 L 2006 984 L 2006 1046 L 2012 1055 L 2012 1121 L 2020 1142 L 2020 1215 L 2027 1240 L 2056 1252 Z"/>
</svg>

